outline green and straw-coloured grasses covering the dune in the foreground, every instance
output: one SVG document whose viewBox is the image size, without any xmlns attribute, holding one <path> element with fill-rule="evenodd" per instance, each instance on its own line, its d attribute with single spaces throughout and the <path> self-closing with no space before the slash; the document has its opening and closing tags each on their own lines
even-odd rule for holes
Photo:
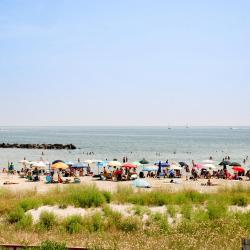
<svg viewBox="0 0 250 250">
<path fill-rule="evenodd" d="M 133 216 L 112 210 L 111 201 L 133 204 Z M 54 241 L 93 249 L 238 249 L 241 239 L 250 235 L 250 211 L 239 212 L 249 204 L 250 188 L 241 186 L 209 194 L 191 190 L 135 192 L 132 188 L 109 193 L 95 186 L 68 186 L 46 194 L 2 189 L 0 239 L 22 244 L 23 239 L 27 244 L 49 239 L 41 249 L 65 249 Z M 43 205 L 99 209 L 67 218 L 44 211 L 34 222 L 29 210 Z M 165 212 L 150 210 L 150 206 L 163 205 Z M 230 206 L 240 209 L 233 211 Z"/>
</svg>

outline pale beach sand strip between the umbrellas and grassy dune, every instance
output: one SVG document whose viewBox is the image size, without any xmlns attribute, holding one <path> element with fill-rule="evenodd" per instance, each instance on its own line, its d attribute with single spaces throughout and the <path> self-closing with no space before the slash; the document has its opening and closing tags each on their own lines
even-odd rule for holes
<svg viewBox="0 0 250 250">
<path fill-rule="evenodd" d="M 90 176 L 81 177 L 81 183 L 75 185 L 96 185 L 100 190 L 105 191 L 116 191 L 118 187 L 132 187 L 132 181 L 124 182 L 115 182 L 115 181 L 100 181 L 96 180 Z M 212 179 L 213 184 L 216 186 L 206 186 L 206 179 L 198 179 L 197 181 L 185 179 L 175 179 L 177 183 L 170 183 L 170 179 L 155 179 L 155 178 L 146 178 L 146 180 L 151 184 L 152 188 L 147 190 L 159 190 L 167 189 L 170 191 L 180 191 L 183 189 L 191 189 L 198 192 L 216 192 L 219 188 L 222 187 L 233 187 L 239 184 L 243 186 L 250 186 L 250 181 L 233 181 L 233 180 L 223 180 L 223 179 Z M 17 184 L 4 185 L 3 183 L 9 181 Z M 6 188 L 12 191 L 25 191 L 25 190 L 36 190 L 37 192 L 47 192 L 53 188 L 64 188 L 67 187 L 67 184 L 46 184 L 45 178 L 42 176 L 39 182 L 30 182 L 24 178 L 20 178 L 16 175 L 7 175 L 0 174 L 0 188 Z M 138 189 L 138 188 L 137 188 Z"/>
</svg>

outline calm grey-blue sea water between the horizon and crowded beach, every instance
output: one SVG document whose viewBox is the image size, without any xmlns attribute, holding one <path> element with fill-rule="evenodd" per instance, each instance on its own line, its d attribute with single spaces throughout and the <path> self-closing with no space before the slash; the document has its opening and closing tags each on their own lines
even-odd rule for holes
<svg viewBox="0 0 250 250">
<path fill-rule="evenodd" d="M 79 149 L 27 150 L 0 149 L 0 167 L 8 161 L 24 157 L 39 160 L 55 159 L 82 161 L 87 159 L 129 161 L 146 158 L 149 161 L 166 160 L 199 162 L 212 156 L 220 161 L 224 156 L 242 162 L 250 156 L 250 127 L 180 128 L 173 127 L 2 127 L 0 142 L 7 143 L 73 143 Z M 94 155 L 87 155 L 94 152 Z"/>
</svg>

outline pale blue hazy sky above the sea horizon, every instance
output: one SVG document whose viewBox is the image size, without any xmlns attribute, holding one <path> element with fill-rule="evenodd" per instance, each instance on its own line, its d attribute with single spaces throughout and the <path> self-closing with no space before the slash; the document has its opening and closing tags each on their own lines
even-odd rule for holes
<svg viewBox="0 0 250 250">
<path fill-rule="evenodd" d="M 0 125 L 250 125 L 249 13 L 249 0 L 0 0 Z"/>
</svg>

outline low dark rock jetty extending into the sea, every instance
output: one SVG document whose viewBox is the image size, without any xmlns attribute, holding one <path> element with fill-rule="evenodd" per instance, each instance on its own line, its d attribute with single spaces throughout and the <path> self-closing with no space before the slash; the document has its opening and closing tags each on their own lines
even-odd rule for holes
<svg viewBox="0 0 250 250">
<path fill-rule="evenodd" d="M 74 150 L 76 146 L 73 144 L 10 144 L 0 143 L 0 148 L 24 148 L 24 149 L 68 149 Z"/>
</svg>

